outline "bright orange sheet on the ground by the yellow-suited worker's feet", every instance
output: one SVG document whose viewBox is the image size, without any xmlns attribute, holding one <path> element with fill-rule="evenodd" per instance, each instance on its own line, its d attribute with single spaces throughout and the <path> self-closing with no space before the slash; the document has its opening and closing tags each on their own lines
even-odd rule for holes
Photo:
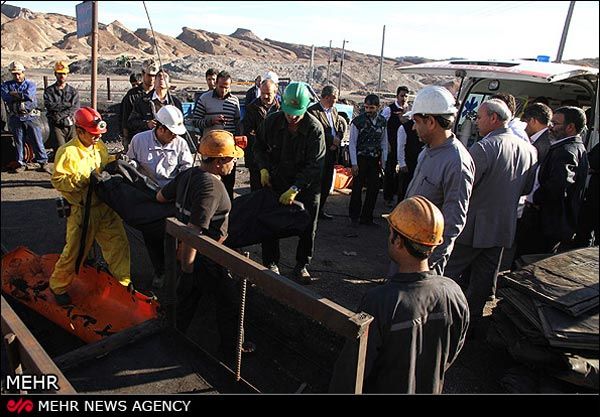
<svg viewBox="0 0 600 417">
<path fill-rule="evenodd" d="M 158 302 L 129 292 L 112 275 L 82 266 L 69 287 L 72 305 L 59 306 L 49 279 L 59 255 L 36 255 L 23 246 L 2 257 L 2 292 L 92 343 L 158 316 Z"/>
</svg>

